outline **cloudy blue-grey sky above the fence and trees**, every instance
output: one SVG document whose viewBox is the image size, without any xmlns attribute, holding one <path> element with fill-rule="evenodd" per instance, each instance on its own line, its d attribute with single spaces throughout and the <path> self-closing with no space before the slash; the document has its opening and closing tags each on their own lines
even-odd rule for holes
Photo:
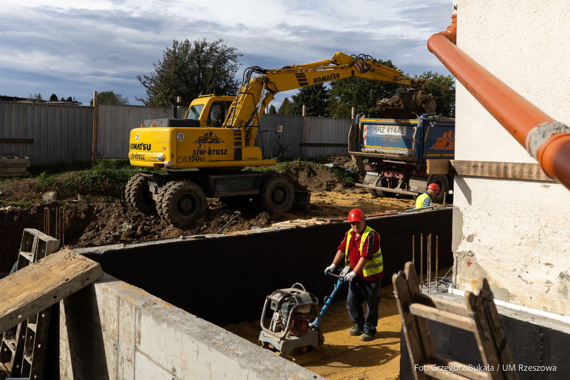
<svg viewBox="0 0 570 380">
<path fill-rule="evenodd" d="M 52 92 L 88 104 L 113 90 L 141 104 L 136 79 L 173 39 L 222 38 L 242 66 L 283 67 L 336 51 L 392 59 L 410 75 L 449 71 L 426 48 L 450 24 L 451 0 L 0 1 L 0 94 Z M 272 104 L 295 92 L 282 92 Z"/>
</svg>

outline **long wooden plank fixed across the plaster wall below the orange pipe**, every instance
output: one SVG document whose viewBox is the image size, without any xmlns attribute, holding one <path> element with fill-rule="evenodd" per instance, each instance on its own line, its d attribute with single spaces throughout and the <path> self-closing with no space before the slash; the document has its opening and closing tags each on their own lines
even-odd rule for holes
<svg viewBox="0 0 570 380">
<path fill-rule="evenodd" d="M 553 181 L 536 163 L 459 160 L 450 160 L 449 162 L 451 172 L 460 176 Z"/>
</svg>

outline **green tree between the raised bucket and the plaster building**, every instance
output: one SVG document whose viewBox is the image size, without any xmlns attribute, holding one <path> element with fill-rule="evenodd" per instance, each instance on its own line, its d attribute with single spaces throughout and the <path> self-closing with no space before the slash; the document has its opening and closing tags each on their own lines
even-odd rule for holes
<svg viewBox="0 0 570 380">
<path fill-rule="evenodd" d="M 433 95 L 435 114 L 455 118 L 455 80 L 453 76 L 424 71 L 418 79 L 425 79 L 424 90 Z"/>
</svg>

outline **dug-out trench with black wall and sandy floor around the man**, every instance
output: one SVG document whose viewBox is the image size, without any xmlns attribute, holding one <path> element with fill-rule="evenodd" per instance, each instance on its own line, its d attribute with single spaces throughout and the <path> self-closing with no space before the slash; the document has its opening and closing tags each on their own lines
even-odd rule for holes
<svg viewBox="0 0 570 380">
<path fill-rule="evenodd" d="M 451 266 L 451 213 L 451 208 L 440 208 L 367 220 L 380 234 L 384 260 L 378 337 L 363 345 L 359 337 L 347 336 L 345 330 L 353 325 L 345 303 L 338 302 L 346 299 L 347 286 L 343 286 L 324 319 L 328 353 L 324 359 L 307 364 L 307 369 L 328 379 L 355 373 L 370 379 L 398 375 L 401 322 L 392 295 L 392 274 L 412 260 L 414 235 L 419 257 L 421 233 L 424 237 L 430 233 L 439 237 L 439 268 Z M 111 276 L 255 343 L 264 301 L 274 290 L 300 282 L 322 305 L 335 283 L 334 278 L 324 276 L 323 270 L 331 263 L 348 228 L 347 223 L 331 223 L 247 235 L 179 237 L 72 250 L 99 262 Z"/>
</svg>

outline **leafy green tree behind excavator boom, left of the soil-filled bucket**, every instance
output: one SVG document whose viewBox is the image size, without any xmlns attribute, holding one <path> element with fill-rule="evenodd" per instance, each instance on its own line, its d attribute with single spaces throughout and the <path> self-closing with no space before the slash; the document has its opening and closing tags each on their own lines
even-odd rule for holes
<svg viewBox="0 0 570 380">
<path fill-rule="evenodd" d="M 377 59 L 377 62 L 398 69 L 392 60 Z M 352 107 L 356 114 L 364 112 L 368 116 L 376 108 L 377 100 L 391 98 L 399 87 L 394 83 L 352 77 L 333 80 L 329 84 L 328 111 L 333 118 L 350 118 Z"/>
</svg>

